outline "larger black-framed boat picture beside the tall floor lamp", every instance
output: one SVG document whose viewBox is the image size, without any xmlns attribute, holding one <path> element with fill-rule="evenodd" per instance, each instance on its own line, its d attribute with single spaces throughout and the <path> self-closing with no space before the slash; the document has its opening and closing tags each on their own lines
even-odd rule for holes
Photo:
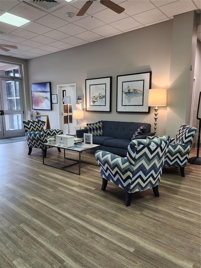
<svg viewBox="0 0 201 268">
<path fill-rule="evenodd" d="M 151 75 L 151 71 L 117 75 L 117 112 L 150 112 Z"/>
</svg>

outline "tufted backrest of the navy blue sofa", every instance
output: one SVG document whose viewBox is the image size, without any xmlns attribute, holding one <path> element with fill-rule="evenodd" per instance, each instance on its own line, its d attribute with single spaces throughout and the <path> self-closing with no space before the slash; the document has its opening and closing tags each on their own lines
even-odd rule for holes
<svg viewBox="0 0 201 268">
<path fill-rule="evenodd" d="M 102 121 L 103 136 L 113 137 L 115 139 L 129 139 L 141 126 L 146 127 L 144 134 L 149 133 L 151 125 L 149 123 L 133 123 L 133 122 L 117 122 L 117 121 Z"/>
</svg>

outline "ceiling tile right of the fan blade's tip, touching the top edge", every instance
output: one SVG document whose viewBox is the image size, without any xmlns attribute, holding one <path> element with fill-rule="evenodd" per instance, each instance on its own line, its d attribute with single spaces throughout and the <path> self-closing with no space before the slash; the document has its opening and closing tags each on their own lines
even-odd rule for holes
<svg viewBox="0 0 201 268">
<path fill-rule="evenodd" d="M 126 1 L 121 3 L 120 6 L 125 8 L 124 12 L 129 16 L 155 8 L 155 5 L 149 0 Z"/>
</svg>

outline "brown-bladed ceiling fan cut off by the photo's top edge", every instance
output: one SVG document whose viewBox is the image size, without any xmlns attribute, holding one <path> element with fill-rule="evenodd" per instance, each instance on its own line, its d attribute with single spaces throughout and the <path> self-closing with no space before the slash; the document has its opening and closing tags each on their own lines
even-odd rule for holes
<svg viewBox="0 0 201 268">
<path fill-rule="evenodd" d="M 94 0 L 96 1 L 96 0 Z M 76 16 L 83 16 L 85 14 L 85 12 L 88 10 L 88 8 L 90 8 L 90 6 L 92 5 L 93 1 L 89 0 L 87 1 L 84 6 L 78 11 L 78 14 L 76 14 Z M 116 3 L 110 1 L 110 0 L 100 0 L 100 3 L 104 6 L 106 6 L 107 8 L 110 8 L 111 10 L 113 10 L 114 12 L 120 14 L 122 13 L 125 8 L 122 8 L 121 6 L 117 5 Z"/>
</svg>

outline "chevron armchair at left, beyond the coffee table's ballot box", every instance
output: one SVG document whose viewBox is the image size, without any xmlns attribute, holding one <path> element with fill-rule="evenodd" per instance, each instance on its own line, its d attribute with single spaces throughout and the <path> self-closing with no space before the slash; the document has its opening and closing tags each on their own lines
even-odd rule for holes
<svg viewBox="0 0 201 268">
<path fill-rule="evenodd" d="M 40 119 L 37 120 L 23 120 L 26 141 L 29 147 L 28 155 L 31 154 L 32 148 L 40 148 L 42 150 L 42 144 L 47 143 L 47 136 L 55 136 L 63 134 L 61 129 L 43 129 L 43 122 Z M 46 146 L 43 151 L 44 157 L 46 157 L 47 149 L 51 146 Z M 57 148 L 61 152 L 60 148 Z"/>
</svg>

